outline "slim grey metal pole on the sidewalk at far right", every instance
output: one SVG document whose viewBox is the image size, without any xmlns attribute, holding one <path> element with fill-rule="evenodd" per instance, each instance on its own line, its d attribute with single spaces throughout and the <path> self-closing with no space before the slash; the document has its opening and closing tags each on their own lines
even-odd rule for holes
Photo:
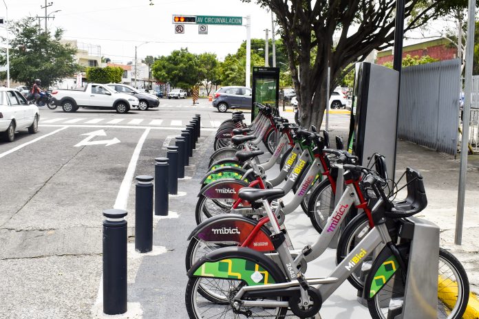
<svg viewBox="0 0 479 319">
<path fill-rule="evenodd" d="M 472 63 L 474 57 L 474 21 L 476 10 L 476 0 L 469 0 L 469 15 L 467 21 L 467 40 L 466 40 L 466 72 L 465 72 L 465 92 L 464 92 L 464 110 L 462 111 L 462 142 L 460 144 L 460 169 L 459 169 L 459 190 L 458 190 L 458 209 L 456 212 L 456 233 L 454 234 L 454 243 L 462 244 L 462 222 L 464 221 L 464 204 L 466 196 L 466 173 L 467 173 L 467 144 L 469 143 L 469 119 L 471 115 L 471 91 L 472 91 Z"/>
</svg>

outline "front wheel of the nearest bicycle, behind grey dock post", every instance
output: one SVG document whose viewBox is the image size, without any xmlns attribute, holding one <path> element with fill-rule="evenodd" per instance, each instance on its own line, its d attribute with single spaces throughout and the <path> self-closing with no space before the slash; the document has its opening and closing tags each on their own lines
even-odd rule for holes
<svg viewBox="0 0 479 319">
<path fill-rule="evenodd" d="M 447 250 L 439 250 L 438 304 L 437 318 L 460 319 L 469 300 L 469 280 L 464 267 Z M 368 300 L 368 308 L 373 319 L 395 318 L 403 312 L 405 282 L 402 270 Z"/>
</svg>

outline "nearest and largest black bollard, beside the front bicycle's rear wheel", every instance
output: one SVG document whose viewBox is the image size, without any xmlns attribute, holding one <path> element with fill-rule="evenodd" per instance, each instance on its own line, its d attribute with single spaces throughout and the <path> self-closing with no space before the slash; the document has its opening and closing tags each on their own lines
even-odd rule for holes
<svg viewBox="0 0 479 319">
<path fill-rule="evenodd" d="M 103 312 L 127 312 L 126 210 L 103 210 Z"/>
</svg>

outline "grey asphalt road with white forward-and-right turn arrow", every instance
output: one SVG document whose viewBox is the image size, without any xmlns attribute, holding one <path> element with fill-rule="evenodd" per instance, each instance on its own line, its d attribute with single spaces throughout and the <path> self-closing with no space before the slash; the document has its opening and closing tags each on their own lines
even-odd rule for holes
<svg viewBox="0 0 479 319">
<path fill-rule="evenodd" d="M 191 100 L 161 99 L 158 109 L 127 114 L 41 109 L 39 133 L 20 131 L 14 142 L 0 142 L 1 317 L 92 318 L 102 274 L 103 210 L 126 209 L 133 236 L 132 177 L 153 175 L 153 159 L 166 155 L 164 146 L 171 137 L 178 136 L 193 115 L 201 114 L 203 146 L 187 168 L 187 176 L 200 178 L 202 172 L 195 172 L 209 156 L 211 134 L 231 118 L 231 113 L 218 113 L 206 100 L 194 107 L 190 104 Z M 168 223 L 161 222 L 155 232 L 155 245 L 171 254 L 160 262 L 153 257 L 129 261 L 129 301 L 141 304 L 144 318 L 151 318 L 148 311 L 155 313 L 158 298 L 169 289 L 175 296 L 184 294 L 183 248 L 194 223 L 191 201 L 198 184 L 185 179 L 179 187 L 187 189 L 191 198 L 171 199 L 170 210 L 189 212 L 191 220 L 167 230 Z M 162 267 L 180 270 L 178 277 L 161 272 L 164 276 L 155 281 L 157 277 L 147 276 L 151 268 L 154 273 Z M 151 294 L 156 289 L 160 296 Z M 184 309 L 183 303 L 176 300 L 172 307 Z"/>
</svg>

